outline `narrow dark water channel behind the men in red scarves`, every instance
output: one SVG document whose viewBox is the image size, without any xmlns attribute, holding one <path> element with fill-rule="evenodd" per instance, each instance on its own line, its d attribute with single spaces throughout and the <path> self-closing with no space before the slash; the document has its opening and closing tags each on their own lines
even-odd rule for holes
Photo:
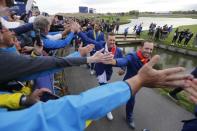
<svg viewBox="0 0 197 131">
<path fill-rule="evenodd" d="M 137 45 L 133 45 L 132 47 L 121 46 L 120 48 L 123 50 L 124 54 L 127 54 L 137 50 L 139 47 Z M 158 63 L 160 69 L 182 66 L 186 68 L 186 72 L 190 73 L 197 66 L 197 59 L 193 56 L 188 56 L 159 48 L 154 49 L 154 54 L 159 54 L 161 56 L 161 59 Z"/>
</svg>

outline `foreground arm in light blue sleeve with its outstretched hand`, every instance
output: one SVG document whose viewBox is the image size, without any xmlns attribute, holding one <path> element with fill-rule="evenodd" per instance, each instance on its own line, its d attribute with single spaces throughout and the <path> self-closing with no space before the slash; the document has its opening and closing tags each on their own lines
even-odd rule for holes
<svg viewBox="0 0 197 131">
<path fill-rule="evenodd" d="M 65 96 L 46 103 L 38 102 L 27 110 L 1 112 L 0 129 L 11 131 L 14 127 L 15 131 L 37 129 L 80 131 L 84 130 L 86 120 L 101 118 L 135 95 L 142 86 L 175 85 L 175 82 L 176 85 L 183 84 L 186 78 L 184 75 L 174 76 L 174 73 L 182 71 L 182 68 L 157 71 L 152 69 L 157 60 L 158 57 L 154 57 L 136 76 L 126 82 L 114 82 L 91 89 L 81 95 Z"/>
</svg>

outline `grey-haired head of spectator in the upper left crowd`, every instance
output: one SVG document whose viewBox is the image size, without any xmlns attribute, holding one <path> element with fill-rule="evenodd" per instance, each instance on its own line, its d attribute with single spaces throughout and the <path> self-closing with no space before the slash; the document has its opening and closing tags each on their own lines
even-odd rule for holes
<svg viewBox="0 0 197 131">
<path fill-rule="evenodd" d="M 45 33 L 46 29 L 50 25 L 50 20 L 42 15 L 39 15 L 35 18 L 33 26 L 35 29 L 40 29 L 41 33 Z"/>
</svg>

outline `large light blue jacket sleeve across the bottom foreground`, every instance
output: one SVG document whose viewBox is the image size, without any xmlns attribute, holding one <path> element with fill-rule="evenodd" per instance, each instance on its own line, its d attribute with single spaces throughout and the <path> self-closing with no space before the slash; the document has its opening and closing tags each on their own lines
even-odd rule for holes
<svg viewBox="0 0 197 131">
<path fill-rule="evenodd" d="M 128 84 L 119 81 L 92 88 L 80 95 L 38 102 L 20 111 L 0 110 L 0 130 L 83 131 L 86 120 L 105 116 L 126 103 L 131 94 Z"/>
</svg>

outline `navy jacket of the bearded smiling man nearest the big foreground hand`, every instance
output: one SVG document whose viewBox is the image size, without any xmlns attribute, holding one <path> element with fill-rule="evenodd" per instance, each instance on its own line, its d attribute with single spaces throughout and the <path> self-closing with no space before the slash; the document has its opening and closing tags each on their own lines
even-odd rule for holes
<svg viewBox="0 0 197 131">
<path fill-rule="evenodd" d="M 140 68 L 143 66 L 143 63 L 141 62 L 141 60 L 137 56 L 137 53 L 135 52 L 126 55 L 124 58 L 116 59 L 116 66 L 127 66 L 127 72 L 123 79 L 126 80 L 136 75 L 138 70 L 140 70 Z"/>
</svg>

